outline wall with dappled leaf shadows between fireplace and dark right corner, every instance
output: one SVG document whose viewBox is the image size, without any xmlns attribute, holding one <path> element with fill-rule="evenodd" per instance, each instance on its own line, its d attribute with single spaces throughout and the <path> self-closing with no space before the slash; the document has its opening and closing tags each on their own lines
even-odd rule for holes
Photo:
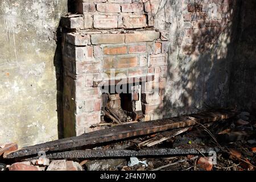
<svg viewBox="0 0 256 182">
<path fill-rule="evenodd" d="M 229 8 L 217 5 L 217 11 L 209 8 L 207 13 L 202 11 L 204 2 L 186 5 L 186 12 L 181 1 L 167 1 L 164 6 L 160 5 L 160 15 L 156 15 L 174 21 L 168 32 L 171 44 L 164 106 L 156 110 L 164 118 L 228 107 L 233 42 L 241 1 L 224 0 Z M 183 10 L 170 15 L 177 9 Z M 210 11 L 214 13 L 210 14 Z M 180 22 L 183 20 L 182 28 Z"/>
</svg>

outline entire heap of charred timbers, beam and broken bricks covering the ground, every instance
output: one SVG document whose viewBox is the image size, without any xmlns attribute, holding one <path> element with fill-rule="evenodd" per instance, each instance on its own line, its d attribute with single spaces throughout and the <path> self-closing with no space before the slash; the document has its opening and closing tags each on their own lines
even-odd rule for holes
<svg viewBox="0 0 256 182">
<path fill-rule="evenodd" d="M 63 139 L 22 150 L 15 143 L 1 144 L 0 171 L 255 170 L 256 118 L 224 113 L 118 123 L 72 138 L 73 143 Z M 45 155 L 36 154 L 44 148 Z"/>
</svg>

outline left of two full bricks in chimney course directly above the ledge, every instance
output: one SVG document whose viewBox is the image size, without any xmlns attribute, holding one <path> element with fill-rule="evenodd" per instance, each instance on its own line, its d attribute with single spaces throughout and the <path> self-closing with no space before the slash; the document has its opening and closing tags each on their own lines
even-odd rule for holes
<svg viewBox="0 0 256 182">
<path fill-rule="evenodd" d="M 117 28 L 118 16 L 114 15 L 94 15 L 94 28 Z"/>
</svg>

